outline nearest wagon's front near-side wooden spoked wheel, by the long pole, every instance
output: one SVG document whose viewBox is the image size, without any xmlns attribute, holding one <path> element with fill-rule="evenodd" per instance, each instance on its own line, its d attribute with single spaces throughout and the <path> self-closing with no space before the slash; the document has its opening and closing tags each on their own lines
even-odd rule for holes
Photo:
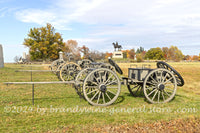
<svg viewBox="0 0 200 133">
<path fill-rule="evenodd" d="M 99 68 L 90 72 L 83 83 L 84 98 L 94 106 L 107 106 L 117 100 L 121 82 L 115 72 Z"/>
</svg>

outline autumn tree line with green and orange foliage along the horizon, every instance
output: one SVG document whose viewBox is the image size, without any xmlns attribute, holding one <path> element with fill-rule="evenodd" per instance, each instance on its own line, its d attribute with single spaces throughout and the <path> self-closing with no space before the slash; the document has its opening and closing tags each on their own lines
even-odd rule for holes
<svg viewBox="0 0 200 133">
<path fill-rule="evenodd" d="M 28 37 L 24 39 L 23 45 L 29 48 L 30 60 L 52 61 L 59 58 L 58 53 L 60 51 L 72 53 L 74 60 L 88 57 L 101 60 L 112 57 L 110 52 L 90 50 L 85 45 L 79 47 L 76 40 L 64 42 L 62 35 L 56 32 L 55 28 L 49 23 L 45 27 L 31 28 Z M 148 51 L 143 47 L 139 47 L 136 50 L 133 48 L 122 50 L 122 52 L 124 58 L 137 60 L 138 62 L 143 60 L 200 60 L 200 54 L 199 56 L 183 55 L 176 46 L 151 48 Z M 64 56 L 64 59 L 67 60 L 68 57 Z"/>
</svg>

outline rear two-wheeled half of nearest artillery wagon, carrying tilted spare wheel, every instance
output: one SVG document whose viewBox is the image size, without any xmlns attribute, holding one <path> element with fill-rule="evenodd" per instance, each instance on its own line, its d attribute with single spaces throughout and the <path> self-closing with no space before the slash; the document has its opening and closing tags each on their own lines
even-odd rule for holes
<svg viewBox="0 0 200 133">
<path fill-rule="evenodd" d="M 131 95 L 143 92 L 150 103 L 165 103 L 172 100 L 177 86 L 183 86 L 182 76 L 166 62 L 157 62 L 157 69 L 129 68 L 125 84 Z"/>
</svg>

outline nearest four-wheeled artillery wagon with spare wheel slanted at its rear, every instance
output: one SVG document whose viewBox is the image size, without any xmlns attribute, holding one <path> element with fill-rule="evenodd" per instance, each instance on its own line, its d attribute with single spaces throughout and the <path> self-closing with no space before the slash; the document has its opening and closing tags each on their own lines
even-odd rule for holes
<svg viewBox="0 0 200 133">
<path fill-rule="evenodd" d="M 121 68 L 112 59 L 108 61 L 110 65 L 90 63 L 87 68 L 77 73 L 74 80 L 59 83 L 73 83 L 77 94 L 94 106 L 108 106 L 114 103 L 122 84 L 127 86 L 133 96 L 136 96 L 138 91 L 143 92 L 150 103 L 169 102 L 174 98 L 177 86 L 184 85 L 181 75 L 165 62 L 157 62 L 156 69 L 129 68 L 128 77 L 120 79 L 118 74 L 123 74 Z"/>
</svg>

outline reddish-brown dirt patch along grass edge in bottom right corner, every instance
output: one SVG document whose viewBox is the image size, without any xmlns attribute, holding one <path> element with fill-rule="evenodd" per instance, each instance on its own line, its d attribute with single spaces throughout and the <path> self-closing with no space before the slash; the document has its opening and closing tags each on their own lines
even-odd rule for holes
<svg viewBox="0 0 200 133">
<path fill-rule="evenodd" d="M 138 123 L 134 125 L 122 124 L 118 126 L 104 126 L 84 129 L 89 132 L 130 132 L 130 133 L 148 133 L 148 132 L 200 132 L 200 118 L 176 119 L 171 121 L 158 121 L 155 123 Z"/>
</svg>

